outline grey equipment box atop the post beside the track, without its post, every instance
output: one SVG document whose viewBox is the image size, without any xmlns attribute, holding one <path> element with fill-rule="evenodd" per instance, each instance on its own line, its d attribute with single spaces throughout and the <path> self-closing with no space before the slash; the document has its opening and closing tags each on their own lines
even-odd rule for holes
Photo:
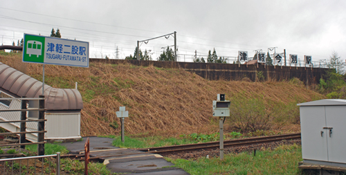
<svg viewBox="0 0 346 175">
<path fill-rule="evenodd" d="M 225 100 L 225 94 L 217 94 L 217 101 L 212 101 L 212 116 L 230 116 L 230 101 Z"/>
</svg>

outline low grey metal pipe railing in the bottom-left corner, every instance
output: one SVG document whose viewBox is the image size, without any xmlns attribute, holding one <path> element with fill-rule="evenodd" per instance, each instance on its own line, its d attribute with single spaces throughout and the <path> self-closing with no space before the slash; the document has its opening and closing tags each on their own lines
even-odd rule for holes
<svg viewBox="0 0 346 175">
<path fill-rule="evenodd" d="M 52 155 L 46 155 L 46 156 L 30 156 L 30 157 L 21 157 L 21 158 L 3 158 L 0 159 L 0 173 L 1 174 L 39 174 L 39 171 L 36 167 L 39 166 L 39 164 L 36 164 L 37 159 L 41 159 L 41 168 L 38 168 L 38 170 L 41 170 L 41 174 L 51 174 L 52 172 L 55 174 L 60 174 L 60 152 L 57 152 L 57 154 Z M 56 169 L 55 172 L 52 171 L 52 160 L 46 160 L 46 164 L 48 163 L 48 167 L 44 168 L 45 159 L 48 158 L 56 158 Z M 29 163 L 30 159 L 34 159 L 34 163 Z M 26 160 L 24 164 L 22 163 L 22 160 Z M 17 162 L 19 161 L 19 163 Z M 39 160 L 38 160 L 39 161 Z M 10 162 L 10 163 L 8 163 Z M 40 162 L 38 162 L 40 163 Z M 33 165 L 33 166 L 29 166 Z"/>
</svg>

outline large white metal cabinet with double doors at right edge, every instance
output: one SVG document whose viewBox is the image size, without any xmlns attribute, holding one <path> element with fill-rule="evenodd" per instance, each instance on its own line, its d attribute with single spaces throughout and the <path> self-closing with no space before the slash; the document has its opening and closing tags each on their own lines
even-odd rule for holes
<svg viewBox="0 0 346 175">
<path fill-rule="evenodd" d="M 346 100 L 300 106 L 303 163 L 346 167 Z"/>
</svg>

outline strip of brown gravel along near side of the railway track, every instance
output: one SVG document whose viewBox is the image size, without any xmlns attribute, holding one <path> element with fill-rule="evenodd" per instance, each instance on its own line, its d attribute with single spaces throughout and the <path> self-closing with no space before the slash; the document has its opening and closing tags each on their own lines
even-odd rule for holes
<svg viewBox="0 0 346 175">
<path fill-rule="evenodd" d="M 293 144 L 301 145 L 301 140 L 283 140 L 280 142 L 270 142 L 270 143 L 262 143 L 258 145 L 248 145 L 248 146 L 241 146 L 241 147 L 226 147 L 224 148 L 224 154 L 230 154 L 235 153 L 238 154 L 243 151 L 253 152 L 256 150 L 261 149 L 274 149 L 275 147 L 278 147 L 280 145 L 293 145 Z M 199 151 L 188 151 L 188 152 L 181 152 L 181 153 L 174 153 L 174 154 L 161 154 L 162 156 L 169 157 L 169 158 L 183 158 L 183 159 L 197 159 L 200 157 L 206 157 L 209 155 L 209 157 L 219 157 L 220 149 L 214 149 L 214 150 L 199 150 Z"/>
</svg>

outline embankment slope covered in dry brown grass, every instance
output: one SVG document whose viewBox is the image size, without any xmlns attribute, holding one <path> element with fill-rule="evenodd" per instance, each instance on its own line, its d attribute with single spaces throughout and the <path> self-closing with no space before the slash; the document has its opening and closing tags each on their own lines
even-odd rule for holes
<svg viewBox="0 0 346 175">
<path fill-rule="evenodd" d="M 0 62 L 42 80 L 42 65 L 22 63 L 21 54 L 0 54 Z M 217 93 L 226 93 L 226 100 L 233 100 L 235 96 L 237 99 L 258 98 L 266 106 L 323 98 L 300 83 L 208 81 L 181 69 L 154 66 L 47 65 L 45 73 L 46 84 L 53 87 L 74 88 L 78 82 L 84 100 L 82 136 L 118 135 L 120 120 L 116 118 L 116 111 L 121 106 L 129 111 L 129 118 L 125 119 L 127 134 L 176 136 L 219 130 L 218 122 L 212 118 L 212 100 L 216 100 Z M 293 128 L 299 130 L 299 127 Z"/>
</svg>

